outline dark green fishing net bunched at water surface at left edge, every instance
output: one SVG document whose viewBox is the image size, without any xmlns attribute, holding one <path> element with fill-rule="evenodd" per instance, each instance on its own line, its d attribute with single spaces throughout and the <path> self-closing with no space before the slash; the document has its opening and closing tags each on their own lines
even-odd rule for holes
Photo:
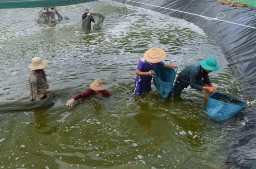
<svg viewBox="0 0 256 169">
<path fill-rule="evenodd" d="M 7 112 L 7 111 L 18 111 L 18 110 L 31 110 L 31 109 L 38 109 L 44 108 L 52 104 L 53 96 L 51 91 L 46 92 L 46 99 L 41 99 L 38 101 L 30 101 L 30 102 L 11 102 L 11 103 L 2 103 L 0 104 L 0 112 Z"/>
</svg>

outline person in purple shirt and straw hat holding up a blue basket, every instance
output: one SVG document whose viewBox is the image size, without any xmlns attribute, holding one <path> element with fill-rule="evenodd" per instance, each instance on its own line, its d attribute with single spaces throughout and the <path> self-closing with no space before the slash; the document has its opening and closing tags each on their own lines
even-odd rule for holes
<svg viewBox="0 0 256 169">
<path fill-rule="evenodd" d="M 165 51 L 160 48 L 151 48 L 144 53 L 144 58 L 139 61 L 137 70 L 135 72 L 135 86 L 133 94 L 141 96 L 144 91 L 151 90 L 151 80 L 155 66 L 165 66 L 176 69 L 176 65 L 169 65 L 162 62 L 165 59 Z"/>
</svg>

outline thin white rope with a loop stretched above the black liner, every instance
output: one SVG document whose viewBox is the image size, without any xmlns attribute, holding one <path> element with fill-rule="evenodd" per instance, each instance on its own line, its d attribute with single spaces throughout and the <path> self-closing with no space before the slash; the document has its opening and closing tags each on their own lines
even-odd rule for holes
<svg viewBox="0 0 256 169">
<path fill-rule="evenodd" d="M 126 1 L 131 1 L 131 0 L 126 0 Z M 195 14 L 195 13 L 184 12 L 184 11 L 180 11 L 180 10 L 176 10 L 176 9 L 170 9 L 170 8 L 166 8 L 166 7 L 155 6 L 155 5 L 146 4 L 146 3 L 141 3 L 141 2 L 136 2 L 136 1 L 131 1 L 131 2 L 140 3 L 140 4 L 145 4 L 145 5 L 154 6 L 154 7 L 160 7 L 160 8 L 163 8 L 163 9 L 174 10 L 174 11 L 177 11 L 177 12 L 183 12 L 183 13 L 187 13 L 187 14 L 190 14 L 190 15 L 200 16 L 200 17 L 202 17 L 202 18 L 204 18 L 204 19 L 207 19 L 207 20 L 215 20 L 215 21 L 218 20 L 218 21 L 222 21 L 222 22 L 228 22 L 228 23 L 230 23 L 230 24 L 236 24 L 236 25 L 240 25 L 240 26 L 245 26 L 245 27 L 249 27 L 249 28 L 254 28 L 254 29 L 256 29 L 255 27 L 251 27 L 251 26 L 247 26 L 247 25 L 242 25 L 242 24 L 237 24 L 237 23 L 234 23 L 234 22 L 229 22 L 229 21 L 224 21 L 224 20 L 218 19 L 218 18 L 223 18 L 223 17 L 225 16 L 225 14 L 223 13 L 224 16 L 222 16 L 222 17 L 219 16 L 219 17 L 218 17 L 218 15 L 219 15 L 220 13 L 222 13 L 222 12 L 220 12 L 220 13 L 216 16 L 216 18 L 210 18 L 210 17 L 208 17 L 208 16 L 197 15 L 197 14 Z"/>
</svg>

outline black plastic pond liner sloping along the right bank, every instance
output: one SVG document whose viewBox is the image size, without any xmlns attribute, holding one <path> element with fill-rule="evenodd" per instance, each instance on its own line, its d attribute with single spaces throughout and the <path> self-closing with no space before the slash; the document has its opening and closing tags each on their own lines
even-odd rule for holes
<svg viewBox="0 0 256 169">
<path fill-rule="evenodd" d="M 217 0 L 194 0 L 192 2 L 191 0 L 134 0 L 145 4 L 126 0 L 114 1 L 185 19 L 186 21 L 193 22 L 195 25 L 201 27 L 204 32 L 215 39 L 219 46 L 225 51 L 225 57 L 241 83 L 245 98 L 255 100 L 256 29 L 222 21 L 207 20 L 200 16 L 176 12 L 169 9 L 195 13 L 197 15 L 200 15 L 203 12 L 201 15 L 211 18 L 216 18 L 218 13 L 223 12 L 225 17 L 220 19 L 251 27 L 256 27 L 256 10 L 249 7 L 229 7 L 228 5 L 221 5 L 217 3 Z M 149 6 L 146 4 L 166 7 L 169 9 Z M 233 137 L 238 140 L 238 144 L 232 145 L 229 156 L 227 157 L 226 163 L 233 163 L 230 168 L 256 168 L 256 109 L 251 106 L 246 110 L 247 111 L 243 111 L 241 114 L 246 117 L 247 122 L 240 131 L 232 133 Z M 223 125 L 236 125 L 239 121 L 244 121 L 242 116 L 238 115 Z"/>
</svg>

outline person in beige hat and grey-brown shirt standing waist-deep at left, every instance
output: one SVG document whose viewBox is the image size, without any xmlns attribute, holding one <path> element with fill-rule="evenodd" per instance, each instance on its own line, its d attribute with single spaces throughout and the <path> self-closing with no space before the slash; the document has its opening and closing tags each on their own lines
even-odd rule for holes
<svg viewBox="0 0 256 169">
<path fill-rule="evenodd" d="M 41 57 L 32 58 L 32 63 L 28 66 L 32 72 L 29 75 L 30 97 L 33 101 L 46 98 L 46 91 L 50 91 L 49 83 L 44 73 L 47 62 Z"/>
</svg>

